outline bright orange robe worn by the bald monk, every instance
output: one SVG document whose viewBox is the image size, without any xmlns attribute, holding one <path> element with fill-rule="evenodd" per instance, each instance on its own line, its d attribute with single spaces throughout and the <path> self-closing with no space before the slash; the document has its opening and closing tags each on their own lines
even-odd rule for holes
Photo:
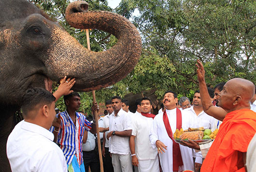
<svg viewBox="0 0 256 172">
<path fill-rule="evenodd" d="M 245 172 L 242 152 L 256 133 L 256 112 L 229 112 L 203 161 L 201 172 Z"/>
</svg>

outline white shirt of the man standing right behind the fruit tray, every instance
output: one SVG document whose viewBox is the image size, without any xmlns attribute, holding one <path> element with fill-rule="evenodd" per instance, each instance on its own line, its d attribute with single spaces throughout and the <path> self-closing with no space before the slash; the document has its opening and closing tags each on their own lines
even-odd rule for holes
<svg viewBox="0 0 256 172">
<path fill-rule="evenodd" d="M 192 128 L 199 128 L 199 127 L 204 127 L 204 129 L 213 129 L 215 127 L 216 119 L 213 118 L 212 116 L 208 115 L 204 111 L 201 111 L 199 115 L 196 114 L 194 111 L 194 106 L 191 108 L 187 108 L 182 111 L 183 113 L 187 113 L 193 116 L 193 122 L 191 123 Z M 187 128 L 184 128 L 184 130 Z"/>
</svg>

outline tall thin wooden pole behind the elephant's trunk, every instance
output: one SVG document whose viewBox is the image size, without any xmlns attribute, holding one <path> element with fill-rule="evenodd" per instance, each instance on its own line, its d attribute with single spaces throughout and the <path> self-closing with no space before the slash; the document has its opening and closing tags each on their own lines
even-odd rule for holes
<svg viewBox="0 0 256 172">
<path fill-rule="evenodd" d="M 85 29 L 85 31 L 86 31 L 86 39 L 87 39 L 87 48 L 89 50 L 91 50 L 89 30 Z M 92 91 L 92 97 L 93 97 L 93 104 L 95 104 L 96 103 L 95 90 Z M 99 151 L 99 159 L 100 159 L 100 172 L 104 172 L 104 170 L 103 170 L 103 160 L 102 160 L 102 154 L 101 154 L 101 145 L 100 145 L 100 132 L 99 132 L 98 114 L 97 114 L 97 111 L 93 111 L 92 114 L 93 114 L 93 117 L 95 119 L 95 124 L 96 124 L 98 151 Z"/>
</svg>

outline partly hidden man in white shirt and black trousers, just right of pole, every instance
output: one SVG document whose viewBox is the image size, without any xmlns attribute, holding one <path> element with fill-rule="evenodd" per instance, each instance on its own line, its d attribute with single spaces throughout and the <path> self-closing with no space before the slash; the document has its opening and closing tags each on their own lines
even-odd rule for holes
<svg viewBox="0 0 256 172">
<path fill-rule="evenodd" d="M 106 109 L 108 111 L 108 114 L 104 116 L 103 118 L 103 124 L 105 128 L 109 127 L 109 115 L 114 111 L 112 108 L 112 101 L 107 100 L 105 102 Z M 111 154 L 109 152 L 109 140 L 107 139 L 107 134 L 109 131 L 106 131 L 103 134 L 103 144 L 102 144 L 102 155 L 103 155 L 103 166 L 105 172 L 114 172 L 114 168 L 112 165 L 112 158 Z M 111 139 L 111 138 L 109 138 Z"/>
</svg>

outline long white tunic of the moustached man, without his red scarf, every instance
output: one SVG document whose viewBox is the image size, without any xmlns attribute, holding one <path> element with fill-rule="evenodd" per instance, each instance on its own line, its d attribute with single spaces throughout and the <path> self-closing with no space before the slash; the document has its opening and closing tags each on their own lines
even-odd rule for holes
<svg viewBox="0 0 256 172">
<path fill-rule="evenodd" d="M 176 130 L 176 108 L 173 110 L 166 110 L 169 123 L 171 125 L 171 131 L 172 134 Z M 187 129 L 192 122 L 191 116 L 183 115 L 182 114 L 182 128 Z M 156 117 L 153 120 L 153 125 L 150 129 L 150 142 L 151 146 L 153 148 L 156 148 L 156 140 L 160 140 L 167 146 L 167 150 L 165 150 L 165 153 L 158 154 L 160 158 L 160 164 L 162 167 L 163 172 L 173 172 L 172 169 L 172 140 L 168 136 L 164 122 L 163 122 L 163 113 L 160 113 L 156 115 Z M 194 170 L 194 163 L 193 163 L 193 157 L 192 157 L 192 149 L 189 147 L 184 147 L 180 145 L 181 150 L 181 156 L 183 160 L 183 167 L 181 170 Z"/>
</svg>

